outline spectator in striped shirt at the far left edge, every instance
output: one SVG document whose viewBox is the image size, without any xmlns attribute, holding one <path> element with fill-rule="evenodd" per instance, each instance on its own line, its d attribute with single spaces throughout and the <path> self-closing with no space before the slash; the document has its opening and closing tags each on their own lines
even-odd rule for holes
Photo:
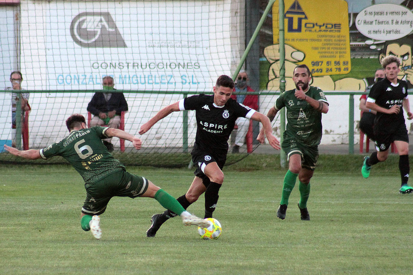
<svg viewBox="0 0 413 275">
<path fill-rule="evenodd" d="M 12 87 L 6 87 L 6 90 L 23 90 L 21 88 L 21 82 L 23 81 L 23 75 L 19 71 L 14 71 L 10 74 L 10 82 Z M 21 102 L 21 123 L 24 121 L 25 111 L 31 110 L 28 104 L 29 93 L 20 94 Z M 17 93 L 12 93 L 12 147 L 16 147 L 16 106 L 17 106 Z"/>
</svg>

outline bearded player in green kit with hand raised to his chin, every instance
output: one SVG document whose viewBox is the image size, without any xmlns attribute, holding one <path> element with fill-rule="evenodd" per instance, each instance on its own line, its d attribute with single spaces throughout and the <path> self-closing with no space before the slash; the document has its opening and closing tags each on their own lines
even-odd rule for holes
<svg viewBox="0 0 413 275">
<path fill-rule="evenodd" d="M 307 200 L 310 194 L 310 179 L 314 174 L 318 159 L 318 145 L 321 141 L 321 113 L 328 112 L 328 102 L 321 89 L 309 86 L 309 68 L 302 64 L 294 68 L 292 80 L 296 89 L 280 94 L 267 117 L 273 121 L 282 107 L 287 109 L 287 127 L 283 134 L 282 150 L 287 154 L 288 171 L 285 174 L 280 207 L 277 217 L 285 219 L 288 197 L 299 179 L 300 201 L 298 208 L 301 220 L 309 221 Z M 265 135 L 261 129 L 257 140 L 264 143 Z"/>
</svg>

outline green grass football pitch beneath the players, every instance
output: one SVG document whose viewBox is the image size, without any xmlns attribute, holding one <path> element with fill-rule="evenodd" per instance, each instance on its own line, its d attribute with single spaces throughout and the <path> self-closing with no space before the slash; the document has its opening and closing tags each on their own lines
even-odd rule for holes
<svg viewBox="0 0 413 275">
<path fill-rule="evenodd" d="M 410 274 L 413 196 L 398 194 L 397 158 L 373 167 L 369 179 L 361 177 L 361 162 L 361 155 L 320 156 L 311 221 L 299 218 L 298 183 L 286 219 L 276 218 L 286 171 L 276 157 L 225 167 L 214 213 L 223 233 L 216 241 L 201 240 L 179 218 L 147 238 L 150 217 L 162 207 L 119 197 L 101 215 L 103 235 L 95 240 L 80 227 L 85 190 L 74 169 L 2 165 L 0 274 Z M 193 179 L 188 169 L 128 171 L 174 197 Z M 202 196 L 188 210 L 202 216 L 203 205 Z"/>
</svg>

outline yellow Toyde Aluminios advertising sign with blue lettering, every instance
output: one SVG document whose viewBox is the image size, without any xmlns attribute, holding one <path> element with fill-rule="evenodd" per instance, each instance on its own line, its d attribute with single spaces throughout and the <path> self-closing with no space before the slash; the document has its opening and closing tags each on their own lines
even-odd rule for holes
<svg viewBox="0 0 413 275">
<path fill-rule="evenodd" d="M 313 76 L 351 70 L 345 0 L 285 0 L 285 59 L 306 64 Z M 279 44 L 278 1 L 273 5 L 273 42 Z"/>
</svg>

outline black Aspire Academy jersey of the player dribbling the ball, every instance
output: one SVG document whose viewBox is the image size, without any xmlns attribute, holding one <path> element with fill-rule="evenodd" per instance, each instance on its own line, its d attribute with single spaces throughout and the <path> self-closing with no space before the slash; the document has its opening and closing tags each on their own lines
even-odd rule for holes
<svg viewBox="0 0 413 275">
<path fill-rule="evenodd" d="M 251 118 L 255 110 L 229 99 L 224 106 L 214 103 L 214 95 L 195 95 L 179 102 L 180 110 L 195 110 L 195 145 L 211 155 L 226 155 L 228 139 L 239 117 Z"/>
</svg>

